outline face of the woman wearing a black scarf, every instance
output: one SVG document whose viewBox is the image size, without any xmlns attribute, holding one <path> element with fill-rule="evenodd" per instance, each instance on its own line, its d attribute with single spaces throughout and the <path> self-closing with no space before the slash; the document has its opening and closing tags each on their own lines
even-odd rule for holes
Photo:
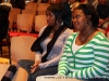
<svg viewBox="0 0 109 81">
<path fill-rule="evenodd" d="M 53 14 L 51 11 L 48 11 L 48 10 L 47 10 L 46 16 L 47 16 L 48 26 L 53 26 L 55 23 L 56 23 L 55 14 Z"/>
</svg>

